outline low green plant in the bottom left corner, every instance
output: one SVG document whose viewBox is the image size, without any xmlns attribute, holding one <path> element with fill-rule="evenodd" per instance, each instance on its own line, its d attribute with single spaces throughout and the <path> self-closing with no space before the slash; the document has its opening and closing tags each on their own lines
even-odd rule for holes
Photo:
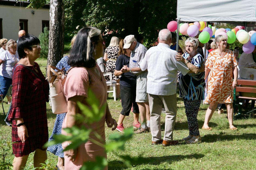
<svg viewBox="0 0 256 170">
<path fill-rule="evenodd" d="M 7 158 L 7 155 L 11 152 L 12 142 L 8 142 L 2 139 L 0 136 L 0 170 L 12 169 L 12 160 Z"/>
</svg>

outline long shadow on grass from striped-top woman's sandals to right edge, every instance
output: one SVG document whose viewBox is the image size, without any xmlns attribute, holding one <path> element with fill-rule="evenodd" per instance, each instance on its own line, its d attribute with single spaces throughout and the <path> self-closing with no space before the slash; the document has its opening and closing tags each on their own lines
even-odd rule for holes
<svg viewBox="0 0 256 170">
<path fill-rule="evenodd" d="M 207 134 L 203 136 L 202 142 L 211 143 L 216 141 L 233 141 L 233 140 L 239 140 L 239 139 L 245 139 L 245 140 L 255 140 L 255 134 L 239 134 L 239 135 L 231 135 L 226 133 L 220 133 L 220 134 Z"/>
</svg>

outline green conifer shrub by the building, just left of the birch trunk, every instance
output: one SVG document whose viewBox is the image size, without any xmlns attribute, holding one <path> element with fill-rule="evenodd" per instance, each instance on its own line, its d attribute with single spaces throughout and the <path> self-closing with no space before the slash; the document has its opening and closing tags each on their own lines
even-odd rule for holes
<svg viewBox="0 0 256 170">
<path fill-rule="evenodd" d="M 44 27 L 44 32 L 41 32 L 38 38 L 41 45 L 40 57 L 47 58 L 49 50 L 49 29 Z"/>
</svg>

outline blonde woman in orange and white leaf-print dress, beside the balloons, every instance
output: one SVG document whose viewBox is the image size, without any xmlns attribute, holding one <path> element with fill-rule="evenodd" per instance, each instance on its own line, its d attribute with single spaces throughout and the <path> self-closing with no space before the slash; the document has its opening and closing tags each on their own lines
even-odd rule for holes
<svg viewBox="0 0 256 170">
<path fill-rule="evenodd" d="M 227 38 L 218 35 L 211 43 L 212 52 L 209 53 L 205 63 L 205 79 L 207 78 L 207 97 L 205 104 L 210 104 L 205 114 L 202 129 L 212 130 L 208 123 L 212 118 L 218 103 L 227 107 L 229 128 L 237 130 L 233 125 L 233 89 L 237 86 L 237 60 L 231 50 L 226 49 Z M 233 79 L 234 77 L 234 79 Z"/>
</svg>

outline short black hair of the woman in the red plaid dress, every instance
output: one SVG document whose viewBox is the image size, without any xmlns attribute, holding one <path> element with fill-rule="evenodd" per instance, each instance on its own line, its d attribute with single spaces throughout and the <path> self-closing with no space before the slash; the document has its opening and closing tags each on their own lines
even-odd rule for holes
<svg viewBox="0 0 256 170">
<path fill-rule="evenodd" d="M 24 36 L 21 36 L 18 40 L 18 54 L 19 54 L 19 58 L 25 58 L 27 56 L 27 54 L 25 53 L 24 49 L 29 49 L 32 50 L 33 45 L 37 45 L 40 44 L 40 40 L 32 35 L 32 34 L 26 34 Z"/>
</svg>

